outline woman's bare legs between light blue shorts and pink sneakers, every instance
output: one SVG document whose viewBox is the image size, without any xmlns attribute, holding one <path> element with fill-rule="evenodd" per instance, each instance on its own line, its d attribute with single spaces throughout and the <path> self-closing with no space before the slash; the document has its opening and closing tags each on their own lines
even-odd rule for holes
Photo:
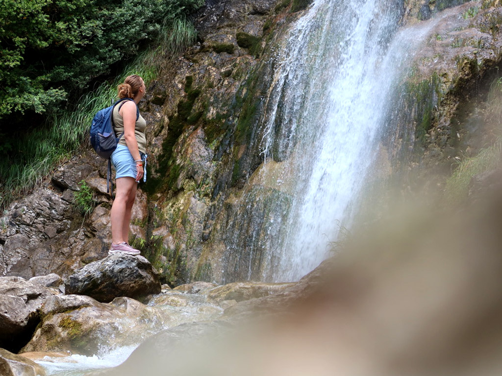
<svg viewBox="0 0 502 376">
<path fill-rule="evenodd" d="M 136 194 L 138 183 L 135 181 L 134 177 L 119 177 L 115 180 L 115 183 L 117 185 L 115 200 L 113 200 L 110 212 L 111 241 L 113 244 L 119 244 L 128 241 L 127 238 L 124 239 L 123 237 L 123 229 L 125 226 L 129 229 L 131 210 L 134 204 L 134 199 L 133 202 L 130 203 L 131 193 L 134 190 Z"/>
</svg>

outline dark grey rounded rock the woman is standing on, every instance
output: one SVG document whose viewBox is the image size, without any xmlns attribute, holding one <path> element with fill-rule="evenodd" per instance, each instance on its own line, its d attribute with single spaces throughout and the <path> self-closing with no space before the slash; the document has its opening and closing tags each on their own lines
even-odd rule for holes
<svg viewBox="0 0 502 376">
<path fill-rule="evenodd" d="M 157 271 L 143 256 L 115 254 L 70 275 L 65 280 L 65 291 L 110 302 L 119 296 L 142 298 L 158 294 L 161 284 Z"/>
</svg>

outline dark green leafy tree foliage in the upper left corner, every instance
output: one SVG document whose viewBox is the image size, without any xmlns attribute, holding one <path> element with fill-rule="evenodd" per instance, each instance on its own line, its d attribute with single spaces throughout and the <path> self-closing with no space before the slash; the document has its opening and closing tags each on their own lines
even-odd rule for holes
<svg viewBox="0 0 502 376">
<path fill-rule="evenodd" d="M 0 119 L 44 113 L 203 0 L 0 0 Z"/>
</svg>

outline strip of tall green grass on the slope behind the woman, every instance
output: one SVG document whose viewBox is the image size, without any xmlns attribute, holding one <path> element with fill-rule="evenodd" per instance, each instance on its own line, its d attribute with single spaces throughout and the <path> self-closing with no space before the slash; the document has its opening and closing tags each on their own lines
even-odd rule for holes
<svg viewBox="0 0 502 376">
<path fill-rule="evenodd" d="M 92 117 L 116 99 L 116 86 L 125 77 L 138 74 L 148 85 L 158 76 L 163 59 L 179 55 L 195 39 L 196 31 L 187 20 L 166 21 L 156 47 L 139 55 L 113 82 L 103 82 L 70 110 L 53 113 L 47 124 L 14 140 L 12 148 L 18 152 L 0 160 L 0 209 L 31 191 L 77 148 L 87 146 Z"/>
</svg>

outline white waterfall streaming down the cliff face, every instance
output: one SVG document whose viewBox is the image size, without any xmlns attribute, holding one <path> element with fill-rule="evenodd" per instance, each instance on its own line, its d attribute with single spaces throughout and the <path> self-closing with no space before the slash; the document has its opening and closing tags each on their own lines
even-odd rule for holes
<svg viewBox="0 0 502 376">
<path fill-rule="evenodd" d="M 281 165 L 278 189 L 293 188 L 290 210 L 270 221 L 280 230 L 269 235 L 280 241 L 270 241 L 264 279 L 299 279 L 326 258 L 340 228 L 350 227 L 388 98 L 420 40 L 396 35 L 402 9 L 402 1 L 317 0 L 274 57 L 262 153 L 265 165 Z"/>
</svg>

